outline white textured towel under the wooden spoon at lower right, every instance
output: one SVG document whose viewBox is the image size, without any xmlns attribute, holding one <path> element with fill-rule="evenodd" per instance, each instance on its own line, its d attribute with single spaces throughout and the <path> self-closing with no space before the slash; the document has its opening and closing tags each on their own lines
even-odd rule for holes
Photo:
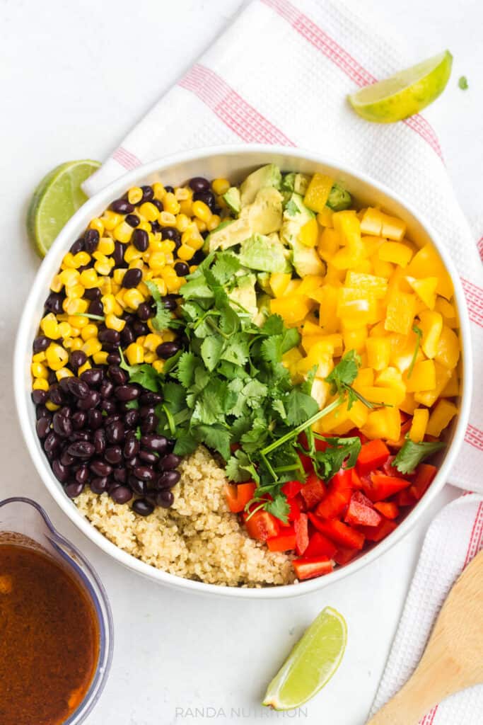
<svg viewBox="0 0 483 725">
<path fill-rule="evenodd" d="M 445 506 L 429 526 L 371 714 L 395 695 L 412 674 L 451 587 L 482 548 L 481 496 L 461 496 Z M 483 685 L 479 685 L 448 697 L 424 716 L 421 725 L 482 725 L 482 722 Z"/>
</svg>

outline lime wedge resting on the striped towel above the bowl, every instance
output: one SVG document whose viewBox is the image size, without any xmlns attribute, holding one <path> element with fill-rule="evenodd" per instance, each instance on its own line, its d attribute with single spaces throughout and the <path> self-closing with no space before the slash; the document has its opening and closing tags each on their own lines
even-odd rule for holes
<svg viewBox="0 0 483 725">
<path fill-rule="evenodd" d="M 445 90 L 453 56 L 446 50 L 391 78 L 379 80 L 348 96 L 350 104 L 366 121 L 394 123 L 419 113 Z"/>
</svg>

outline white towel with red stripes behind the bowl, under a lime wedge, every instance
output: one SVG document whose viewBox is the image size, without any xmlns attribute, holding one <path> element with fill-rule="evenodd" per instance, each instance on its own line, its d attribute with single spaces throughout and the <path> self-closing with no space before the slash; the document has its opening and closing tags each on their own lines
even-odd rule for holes
<svg viewBox="0 0 483 725">
<path fill-rule="evenodd" d="M 426 118 L 371 124 L 348 107 L 348 93 L 415 60 L 397 49 L 379 20 L 369 24 L 357 17 L 356 7 L 343 0 L 254 0 L 156 102 L 85 190 L 94 194 L 126 170 L 182 149 L 245 141 L 314 149 L 408 199 L 447 244 L 466 292 L 474 401 L 450 481 L 483 492 L 483 276 L 476 237 Z"/>
</svg>

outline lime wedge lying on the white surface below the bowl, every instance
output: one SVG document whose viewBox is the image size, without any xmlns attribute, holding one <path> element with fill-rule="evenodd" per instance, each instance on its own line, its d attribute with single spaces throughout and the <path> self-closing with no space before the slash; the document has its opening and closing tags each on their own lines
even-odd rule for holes
<svg viewBox="0 0 483 725">
<path fill-rule="evenodd" d="M 298 708 L 322 689 L 345 652 L 347 625 L 341 614 L 326 607 L 293 647 L 266 689 L 264 705 L 275 710 Z"/>
</svg>

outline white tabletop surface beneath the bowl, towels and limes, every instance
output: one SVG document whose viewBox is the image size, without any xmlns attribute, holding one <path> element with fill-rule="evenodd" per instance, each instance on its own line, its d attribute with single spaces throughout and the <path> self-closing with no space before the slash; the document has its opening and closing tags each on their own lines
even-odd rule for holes
<svg viewBox="0 0 483 725">
<path fill-rule="evenodd" d="M 360 4 L 377 19 L 375 30 L 380 21 L 411 43 L 415 60 L 445 47 L 453 52 L 450 88 L 432 121 L 455 194 L 474 218 L 483 195 L 483 6 L 478 0 L 457 6 L 439 0 Z M 0 498 L 24 494 L 41 502 L 106 585 L 116 627 L 114 661 L 88 725 L 259 719 L 363 725 L 424 531 L 456 494 L 447 487 L 403 542 L 355 576 L 293 601 L 248 602 L 183 595 L 125 571 L 77 532 L 35 475 L 11 384 L 17 319 L 38 267 L 25 236 L 28 197 L 59 162 L 102 159 L 117 146 L 242 5 L 240 0 L 0 0 Z M 457 87 L 463 74 L 466 92 Z M 262 711 L 258 703 L 266 682 L 324 605 L 348 621 L 340 671 L 296 718 Z M 195 708 L 198 716 L 192 717 Z"/>
</svg>

